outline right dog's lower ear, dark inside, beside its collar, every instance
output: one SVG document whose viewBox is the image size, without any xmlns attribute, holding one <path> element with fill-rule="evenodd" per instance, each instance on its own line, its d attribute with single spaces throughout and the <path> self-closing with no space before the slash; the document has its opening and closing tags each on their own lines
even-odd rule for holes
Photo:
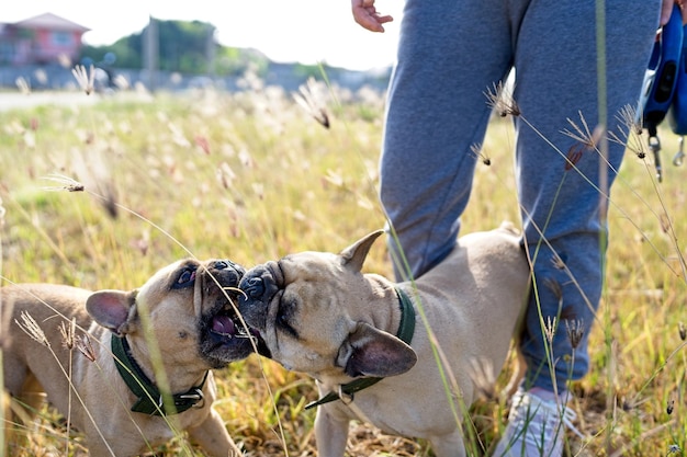
<svg viewBox="0 0 687 457">
<path fill-rule="evenodd" d="M 337 365 L 352 378 L 383 378 L 401 375 L 417 363 L 417 354 L 408 344 L 391 333 L 361 322 L 339 349 Z"/>
</svg>

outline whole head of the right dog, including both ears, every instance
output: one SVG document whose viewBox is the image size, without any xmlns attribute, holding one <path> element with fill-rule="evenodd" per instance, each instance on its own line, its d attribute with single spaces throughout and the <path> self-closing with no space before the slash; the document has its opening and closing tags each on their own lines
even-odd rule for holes
<svg viewBox="0 0 687 457">
<path fill-rule="evenodd" d="M 382 233 L 372 232 L 339 254 L 301 252 L 249 270 L 239 286 L 246 294 L 239 296 L 239 311 L 258 335 L 259 353 L 318 379 L 410 369 L 417 361 L 413 349 L 375 327 L 371 304 L 388 287 L 361 272 Z"/>
</svg>

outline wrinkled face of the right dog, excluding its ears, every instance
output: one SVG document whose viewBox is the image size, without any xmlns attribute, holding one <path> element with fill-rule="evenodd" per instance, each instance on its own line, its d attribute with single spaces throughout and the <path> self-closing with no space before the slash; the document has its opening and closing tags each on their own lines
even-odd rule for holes
<svg viewBox="0 0 687 457">
<path fill-rule="evenodd" d="M 249 270 L 239 311 L 284 367 L 311 374 L 331 369 L 356 321 L 336 309 L 344 295 L 346 266 L 335 254 L 304 252 Z M 338 367 L 340 370 L 340 366 Z"/>
</svg>

